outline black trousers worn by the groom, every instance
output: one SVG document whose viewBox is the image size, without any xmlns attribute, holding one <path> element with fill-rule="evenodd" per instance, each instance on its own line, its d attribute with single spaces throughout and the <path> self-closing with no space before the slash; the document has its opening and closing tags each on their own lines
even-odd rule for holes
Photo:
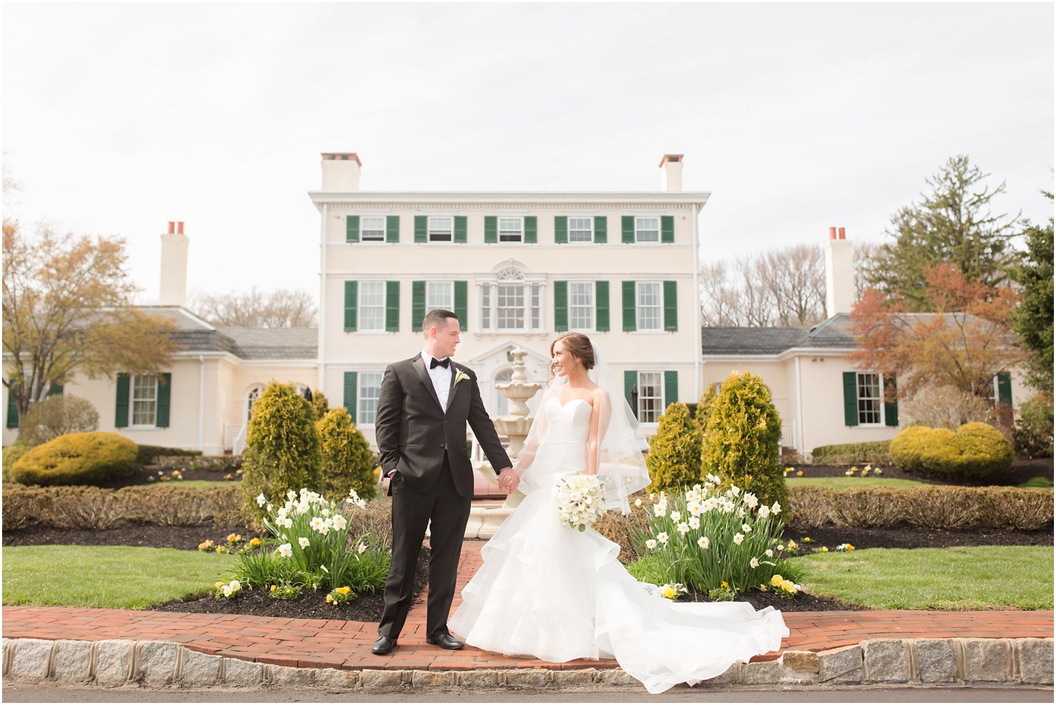
<svg viewBox="0 0 1056 705">
<path fill-rule="evenodd" d="M 414 591 L 418 552 L 430 528 L 429 610 L 426 635 L 448 631 L 448 613 L 455 595 L 463 537 L 469 520 L 470 498 L 455 490 L 447 453 L 440 476 L 428 492 L 415 492 L 396 473 L 393 493 L 393 558 L 385 580 L 385 608 L 378 634 L 396 640 L 403 630 Z"/>
</svg>

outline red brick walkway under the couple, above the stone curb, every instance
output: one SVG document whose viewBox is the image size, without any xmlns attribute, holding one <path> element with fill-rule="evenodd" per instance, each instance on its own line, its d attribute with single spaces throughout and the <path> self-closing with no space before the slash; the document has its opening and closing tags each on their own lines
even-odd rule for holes
<svg viewBox="0 0 1056 705">
<path fill-rule="evenodd" d="M 483 541 L 467 541 L 464 546 L 459 590 L 480 565 L 482 546 Z M 458 599 L 456 595 L 452 609 L 458 606 Z M 849 646 L 878 637 L 1015 639 L 1053 635 L 1052 610 L 785 612 L 784 616 L 791 633 L 781 643 L 781 649 L 808 651 Z M 389 656 L 375 656 L 371 653 L 371 645 L 377 637 L 377 625 L 373 623 L 62 607 L 3 608 L 3 635 L 7 639 L 169 641 L 203 653 L 302 668 L 470 670 L 616 666 L 615 661 L 550 664 L 510 659 L 472 647 L 445 651 L 426 645 L 425 623 L 422 595 L 408 617 L 399 647 Z M 778 654 L 778 651 L 773 651 L 753 661 L 773 660 Z"/>
</svg>

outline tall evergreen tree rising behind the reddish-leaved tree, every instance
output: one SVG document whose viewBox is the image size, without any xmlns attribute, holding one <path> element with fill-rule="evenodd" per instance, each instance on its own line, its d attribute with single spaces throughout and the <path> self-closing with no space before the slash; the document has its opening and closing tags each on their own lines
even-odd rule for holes
<svg viewBox="0 0 1056 705">
<path fill-rule="evenodd" d="M 867 277 L 888 297 L 899 297 L 909 311 L 934 311 L 924 270 L 950 264 L 968 281 L 994 289 L 1006 283 L 1015 264 L 1011 239 L 1017 218 L 994 215 L 989 205 L 1004 193 L 1004 183 L 991 189 L 967 155 L 950 157 L 926 179 L 930 195 L 899 210 L 886 231 L 893 243 L 882 246 Z"/>
</svg>

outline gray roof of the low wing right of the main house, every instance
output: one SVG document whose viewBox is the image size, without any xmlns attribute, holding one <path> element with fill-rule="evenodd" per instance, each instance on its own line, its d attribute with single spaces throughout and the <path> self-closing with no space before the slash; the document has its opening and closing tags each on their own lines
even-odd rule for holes
<svg viewBox="0 0 1056 705">
<path fill-rule="evenodd" d="M 704 355 L 777 355 L 793 347 L 855 347 L 851 317 L 837 313 L 813 328 L 703 326 Z"/>
</svg>

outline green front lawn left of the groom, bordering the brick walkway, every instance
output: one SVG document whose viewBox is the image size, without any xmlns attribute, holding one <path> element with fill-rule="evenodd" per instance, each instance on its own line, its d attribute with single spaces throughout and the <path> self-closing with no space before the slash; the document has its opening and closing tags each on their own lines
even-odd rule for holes
<svg viewBox="0 0 1056 705">
<path fill-rule="evenodd" d="M 227 554 L 130 546 L 3 549 L 4 605 L 142 609 L 211 592 Z"/>
</svg>

